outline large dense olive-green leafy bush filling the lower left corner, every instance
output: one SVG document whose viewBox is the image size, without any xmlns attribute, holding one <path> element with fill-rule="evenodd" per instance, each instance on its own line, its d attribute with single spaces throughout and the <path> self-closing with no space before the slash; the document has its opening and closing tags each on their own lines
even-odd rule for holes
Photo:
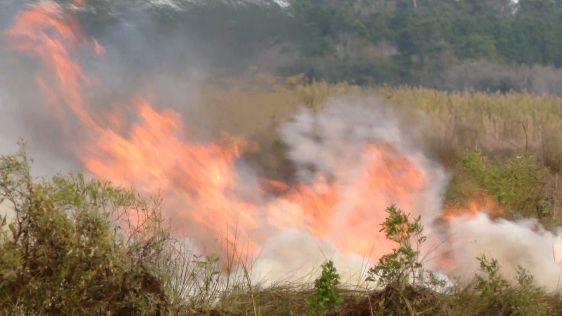
<svg viewBox="0 0 562 316">
<path fill-rule="evenodd" d="M 160 200 L 83 175 L 34 180 L 25 146 L 0 159 L 0 309 L 15 314 L 161 315 L 173 238 Z"/>
</svg>

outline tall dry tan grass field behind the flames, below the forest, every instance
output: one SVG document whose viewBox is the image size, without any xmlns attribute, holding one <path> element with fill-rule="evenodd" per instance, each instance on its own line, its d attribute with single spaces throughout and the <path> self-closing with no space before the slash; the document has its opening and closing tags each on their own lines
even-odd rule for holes
<svg viewBox="0 0 562 316">
<path fill-rule="evenodd" d="M 300 107 L 318 109 L 335 94 L 368 93 L 384 97 L 405 111 L 421 110 L 428 138 L 443 162 L 454 161 L 465 148 L 507 156 L 529 151 L 554 171 L 562 170 L 562 98 L 528 93 L 446 92 L 413 87 L 361 89 L 342 84 L 296 84 L 300 77 L 214 82 L 203 93 L 202 117 L 215 132 L 251 137 L 265 151 L 275 141 L 275 128 Z M 226 88 L 225 88 L 226 87 Z"/>
</svg>

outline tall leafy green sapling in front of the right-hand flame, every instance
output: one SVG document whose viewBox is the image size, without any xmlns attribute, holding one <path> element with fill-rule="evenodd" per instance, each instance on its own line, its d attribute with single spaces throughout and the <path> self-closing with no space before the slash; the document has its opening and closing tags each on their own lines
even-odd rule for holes
<svg viewBox="0 0 562 316">
<path fill-rule="evenodd" d="M 396 288 L 405 295 L 406 285 L 413 278 L 415 285 L 416 277 L 419 276 L 422 264 L 418 262 L 419 251 L 414 250 L 412 241 L 418 245 L 425 241 L 422 236 L 423 227 L 420 218 L 410 223 L 408 215 L 395 205 L 387 207 L 388 217 L 382 223 L 382 229 L 388 240 L 396 242 L 397 246 L 391 254 L 382 256 L 379 264 L 369 270 L 369 281 L 377 280 L 379 285 Z"/>
</svg>

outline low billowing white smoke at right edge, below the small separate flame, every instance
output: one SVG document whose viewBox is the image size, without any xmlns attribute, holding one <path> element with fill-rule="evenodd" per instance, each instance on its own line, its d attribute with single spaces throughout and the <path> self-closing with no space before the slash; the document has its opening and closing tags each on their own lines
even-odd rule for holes
<svg viewBox="0 0 562 316">
<path fill-rule="evenodd" d="M 474 218 L 455 218 L 451 225 L 453 241 L 451 255 L 458 263 L 450 277 L 461 284 L 471 281 L 478 273 L 475 258 L 486 255 L 500 265 L 500 273 L 507 281 L 515 282 L 516 269 L 527 270 L 537 286 L 556 291 L 562 285 L 562 238 L 538 226 L 532 231 L 530 220 L 509 222 L 505 219 L 490 220 L 486 213 Z"/>
</svg>

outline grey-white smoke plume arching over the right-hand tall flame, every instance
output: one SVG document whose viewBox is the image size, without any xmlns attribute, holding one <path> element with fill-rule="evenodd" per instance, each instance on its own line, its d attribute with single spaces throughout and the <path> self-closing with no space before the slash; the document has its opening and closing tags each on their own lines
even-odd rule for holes
<svg viewBox="0 0 562 316">
<path fill-rule="evenodd" d="M 365 151 L 367 143 L 391 145 L 422 173 L 425 186 L 416 193 L 419 207 L 407 211 L 413 216 L 423 214 L 424 223 L 429 224 L 441 211 L 441 193 L 448 177 L 442 166 L 424 155 L 421 124 L 407 123 L 381 98 L 341 96 L 329 99 L 318 113 L 300 110 L 291 122 L 283 125 L 280 136 L 289 147 L 287 156 L 296 165 L 301 180 L 310 183 L 320 173 L 336 178 L 343 186 L 353 186 L 357 178 L 368 172 L 365 162 L 373 158 L 373 153 Z M 390 204 L 400 202 L 400 197 L 382 198 L 386 205 L 373 205 L 373 211 L 382 207 L 384 212 Z"/>
</svg>

